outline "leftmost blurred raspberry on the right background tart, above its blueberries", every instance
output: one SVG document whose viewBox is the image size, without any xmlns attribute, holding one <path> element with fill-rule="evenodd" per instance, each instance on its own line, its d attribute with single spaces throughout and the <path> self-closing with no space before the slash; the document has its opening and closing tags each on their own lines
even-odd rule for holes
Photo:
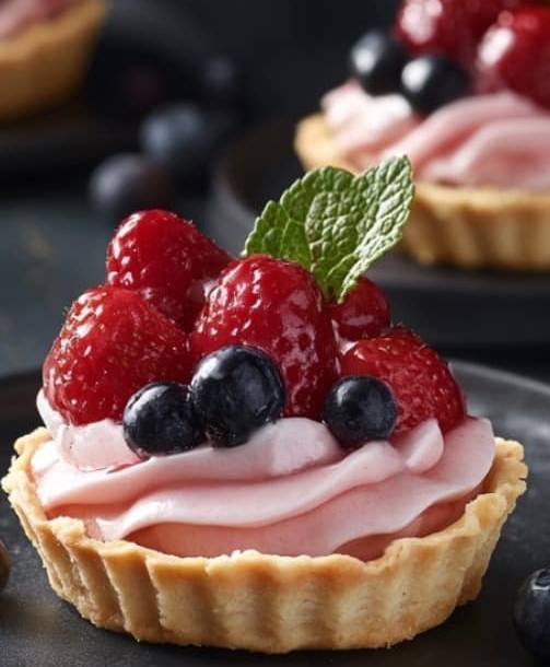
<svg viewBox="0 0 550 667">
<path fill-rule="evenodd" d="M 396 32 L 411 54 L 443 54 L 465 67 L 503 9 L 520 0 L 403 0 Z"/>
</svg>

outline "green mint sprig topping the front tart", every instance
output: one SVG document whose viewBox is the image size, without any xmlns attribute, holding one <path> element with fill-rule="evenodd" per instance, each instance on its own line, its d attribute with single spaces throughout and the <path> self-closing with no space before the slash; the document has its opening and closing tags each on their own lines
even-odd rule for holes
<svg viewBox="0 0 550 667">
<path fill-rule="evenodd" d="M 414 194 L 407 157 L 354 176 L 323 167 L 267 203 L 244 255 L 264 253 L 311 271 L 327 299 L 339 302 L 402 236 Z"/>
</svg>

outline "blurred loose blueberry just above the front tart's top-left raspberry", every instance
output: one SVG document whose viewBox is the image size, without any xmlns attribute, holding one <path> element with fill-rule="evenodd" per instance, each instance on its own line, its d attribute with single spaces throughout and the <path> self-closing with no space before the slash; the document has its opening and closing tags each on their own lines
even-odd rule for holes
<svg viewBox="0 0 550 667">
<path fill-rule="evenodd" d="M 90 178 L 90 198 L 109 221 L 133 211 L 169 209 L 173 203 L 171 176 L 151 160 L 136 154 L 108 157 Z"/>
</svg>

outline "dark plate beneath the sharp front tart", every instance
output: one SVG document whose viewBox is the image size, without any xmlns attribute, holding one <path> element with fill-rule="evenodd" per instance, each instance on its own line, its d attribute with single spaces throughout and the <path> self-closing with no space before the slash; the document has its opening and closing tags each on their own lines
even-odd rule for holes
<svg viewBox="0 0 550 667">
<path fill-rule="evenodd" d="M 304 667 L 525 667 L 533 662 L 515 637 L 511 610 L 522 578 L 550 554 L 550 387 L 473 364 L 455 370 L 473 413 L 489 416 L 495 431 L 520 438 L 531 468 L 529 492 L 507 522 L 479 599 L 458 609 L 442 627 L 391 651 L 303 652 L 264 656 L 208 648 L 138 644 L 131 637 L 97 630 L 50 590 L 38 557 L 24 537 L 3 494 L 0 535 L 13 555 L 12 576 L 0 594 L 0 664 L 4 667 L 83 667 L 131 665 L 270 665 Z M 0 381 L 0 472 L 11 443 L 37 424 L 34 400 L 38 375 Z"/>
</svg>

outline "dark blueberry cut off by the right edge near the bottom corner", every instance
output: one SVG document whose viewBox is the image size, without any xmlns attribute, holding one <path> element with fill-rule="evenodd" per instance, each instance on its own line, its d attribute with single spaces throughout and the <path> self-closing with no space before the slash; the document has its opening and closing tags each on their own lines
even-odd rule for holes
<svg viewBox="0 0 550 667">
<path fill-rule="evenodd" d="M 525 580 L 514 606 L 514 625 L 524 646 L 550 659 L 550 567 Z"/>
</svg>

